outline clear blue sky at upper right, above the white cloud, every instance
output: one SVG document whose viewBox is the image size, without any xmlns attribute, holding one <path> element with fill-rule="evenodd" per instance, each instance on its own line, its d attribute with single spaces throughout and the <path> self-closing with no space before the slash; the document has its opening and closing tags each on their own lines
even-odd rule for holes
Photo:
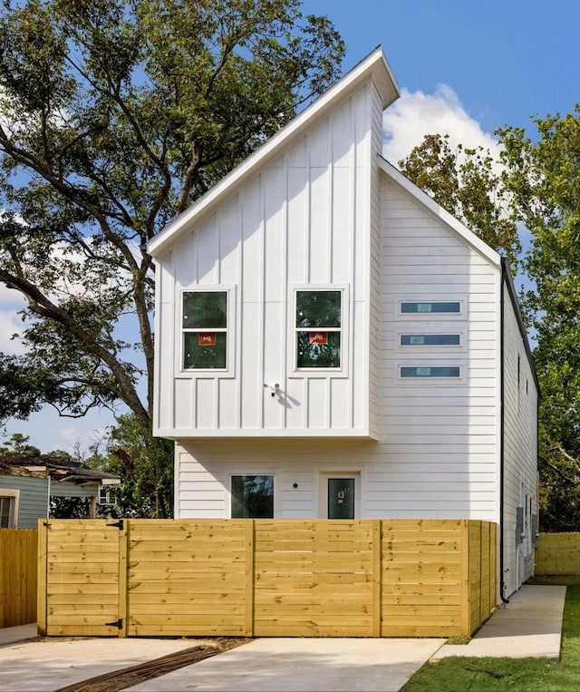
<svg viewBox="0 0 580 692">
<path fill-rule="evenodd" d="M 580 101 L 576 0 L 306 0 L 346 43 L 350 69 L 382 45 L 401 87 L 458 94 L 486 132 Z"/>
</svg>

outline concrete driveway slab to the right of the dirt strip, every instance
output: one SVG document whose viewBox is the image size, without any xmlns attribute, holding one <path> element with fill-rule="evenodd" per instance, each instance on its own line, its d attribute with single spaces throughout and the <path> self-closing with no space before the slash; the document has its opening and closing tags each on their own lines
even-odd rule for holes
<svg viewBox="0 0 580 692">
<path fill-rule="evenodd" d="M 131 692 L 397 692 L 445 639 L 265 638 Z"/>
</svg>

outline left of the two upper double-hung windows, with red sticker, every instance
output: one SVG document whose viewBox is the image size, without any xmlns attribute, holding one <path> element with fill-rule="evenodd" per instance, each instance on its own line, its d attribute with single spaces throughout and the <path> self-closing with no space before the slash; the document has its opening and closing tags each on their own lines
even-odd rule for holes
<svg viewBox="0 0 580 692">
<path fill-rule="evenodd" d="M 183 368 L 227 368 L 227 291 L 184 291 Z"/>
</svg>

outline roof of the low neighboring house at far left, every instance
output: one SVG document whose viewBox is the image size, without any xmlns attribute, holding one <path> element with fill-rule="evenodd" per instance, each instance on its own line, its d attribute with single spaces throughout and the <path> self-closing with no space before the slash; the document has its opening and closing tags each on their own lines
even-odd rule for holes
<svg viewBox="0 0 580 692">
<path fill-rule="evenodd" d="M 22 459 L 9 455 L 0 456 L 0 475 L 48 478 L 56 482 L 73 482 L 76 485 L 119 485 L 120 476 L 103 471 L 92 471 L 73 463 L 46 461 L 30 457 Z"/>
</svg>

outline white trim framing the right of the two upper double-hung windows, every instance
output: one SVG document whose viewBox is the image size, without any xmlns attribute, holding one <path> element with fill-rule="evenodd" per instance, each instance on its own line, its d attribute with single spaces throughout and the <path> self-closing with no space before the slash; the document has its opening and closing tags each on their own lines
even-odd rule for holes
<svg viewBox="0 0 580 692">
<path fill-rule="evenodd" d="M 288 377 L 309 378 L 314 377 L 348 377 L 349 354 L 351 343 L 350 329 L 350 291 L 348 284 L 294 284 L 290 287 L 292 299 L 288 301 L 288 325 L 291 339 L 288 348 L 287 372 Z M 328 331 L 340 331 L 341 334 L 341 366 L 340 367 L 297 367 L 298 354 L 296 353 L 296 296 L 298 291 L 340 291 L 341 292 L 341 327 Z M 321 329 L 321 331 L 324 331 Z"/>
</svg>

